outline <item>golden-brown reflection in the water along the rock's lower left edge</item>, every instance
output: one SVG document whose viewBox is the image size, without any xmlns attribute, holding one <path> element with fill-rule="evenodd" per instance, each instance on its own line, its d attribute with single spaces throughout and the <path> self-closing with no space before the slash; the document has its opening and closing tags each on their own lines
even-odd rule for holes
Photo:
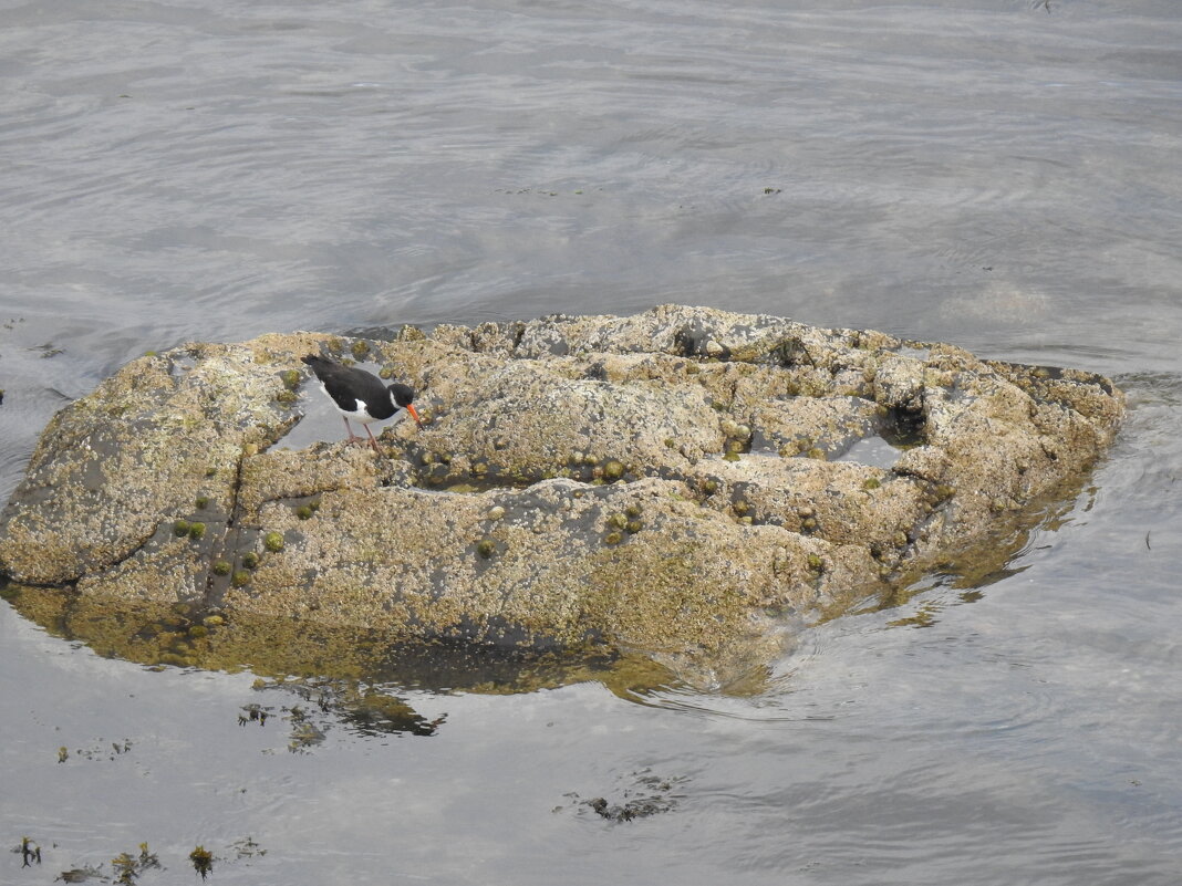
<svg viewBox="0 0 1182 886">
<path fill-rule="evenodd" d="M 292 727 L 293 750 L 323 741 L 322 715 L 357 735 L 434 735 L 442 721 L 422 717 L 400 692 L 507 695 L 595 680 L 635 698 L 676 684 L 644 656 L 600 649 L 560 656 L 453 640 L 408 643 L 364 627 L 24 585 L 8 585 L 2 595 L 52 636 L 85 643 L 108 658 L 259 675 L 256 690 L 281 690 L 298 701 L 249 705 L 243 722 L 266 725 L 281 717 Z"/>
</svg>

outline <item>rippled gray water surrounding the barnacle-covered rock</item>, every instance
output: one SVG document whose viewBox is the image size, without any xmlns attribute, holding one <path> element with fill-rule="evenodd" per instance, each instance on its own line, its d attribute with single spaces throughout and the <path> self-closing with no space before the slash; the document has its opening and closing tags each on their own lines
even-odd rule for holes
<svg viewBox="0 0 1182 886">
<path fill-rule="evenodd" d="M 0 882 L 142 842 L 141 884 L 199 845 L 216 884 L 1182 882 L 1180 158 L 1176 0 L 4 0 L 5 497 L 144 351 L 664 301 L 1104 372 L 1129 417 L 1004 569 L 748 695 L 377 688 L 409 729 L 0 604 L 0 847 L 41 847 Z"/>
</svg>

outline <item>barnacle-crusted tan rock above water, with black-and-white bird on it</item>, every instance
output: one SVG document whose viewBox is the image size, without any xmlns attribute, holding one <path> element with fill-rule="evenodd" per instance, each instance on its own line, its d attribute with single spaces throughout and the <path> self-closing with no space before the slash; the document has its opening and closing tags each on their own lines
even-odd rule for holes
<svg viewBox="0 0 1182 886">
<path fill-rule="evenodd" d="M 378 361 L 429 423 L 381 456 L 284 449 L 310 352 Z M 395 638 L 758 657 L 1077 481 L 1122 411 L 1086 372 L 681 306 L 194 344 L 51 421 L 0 568 Z"/>
</svg>

